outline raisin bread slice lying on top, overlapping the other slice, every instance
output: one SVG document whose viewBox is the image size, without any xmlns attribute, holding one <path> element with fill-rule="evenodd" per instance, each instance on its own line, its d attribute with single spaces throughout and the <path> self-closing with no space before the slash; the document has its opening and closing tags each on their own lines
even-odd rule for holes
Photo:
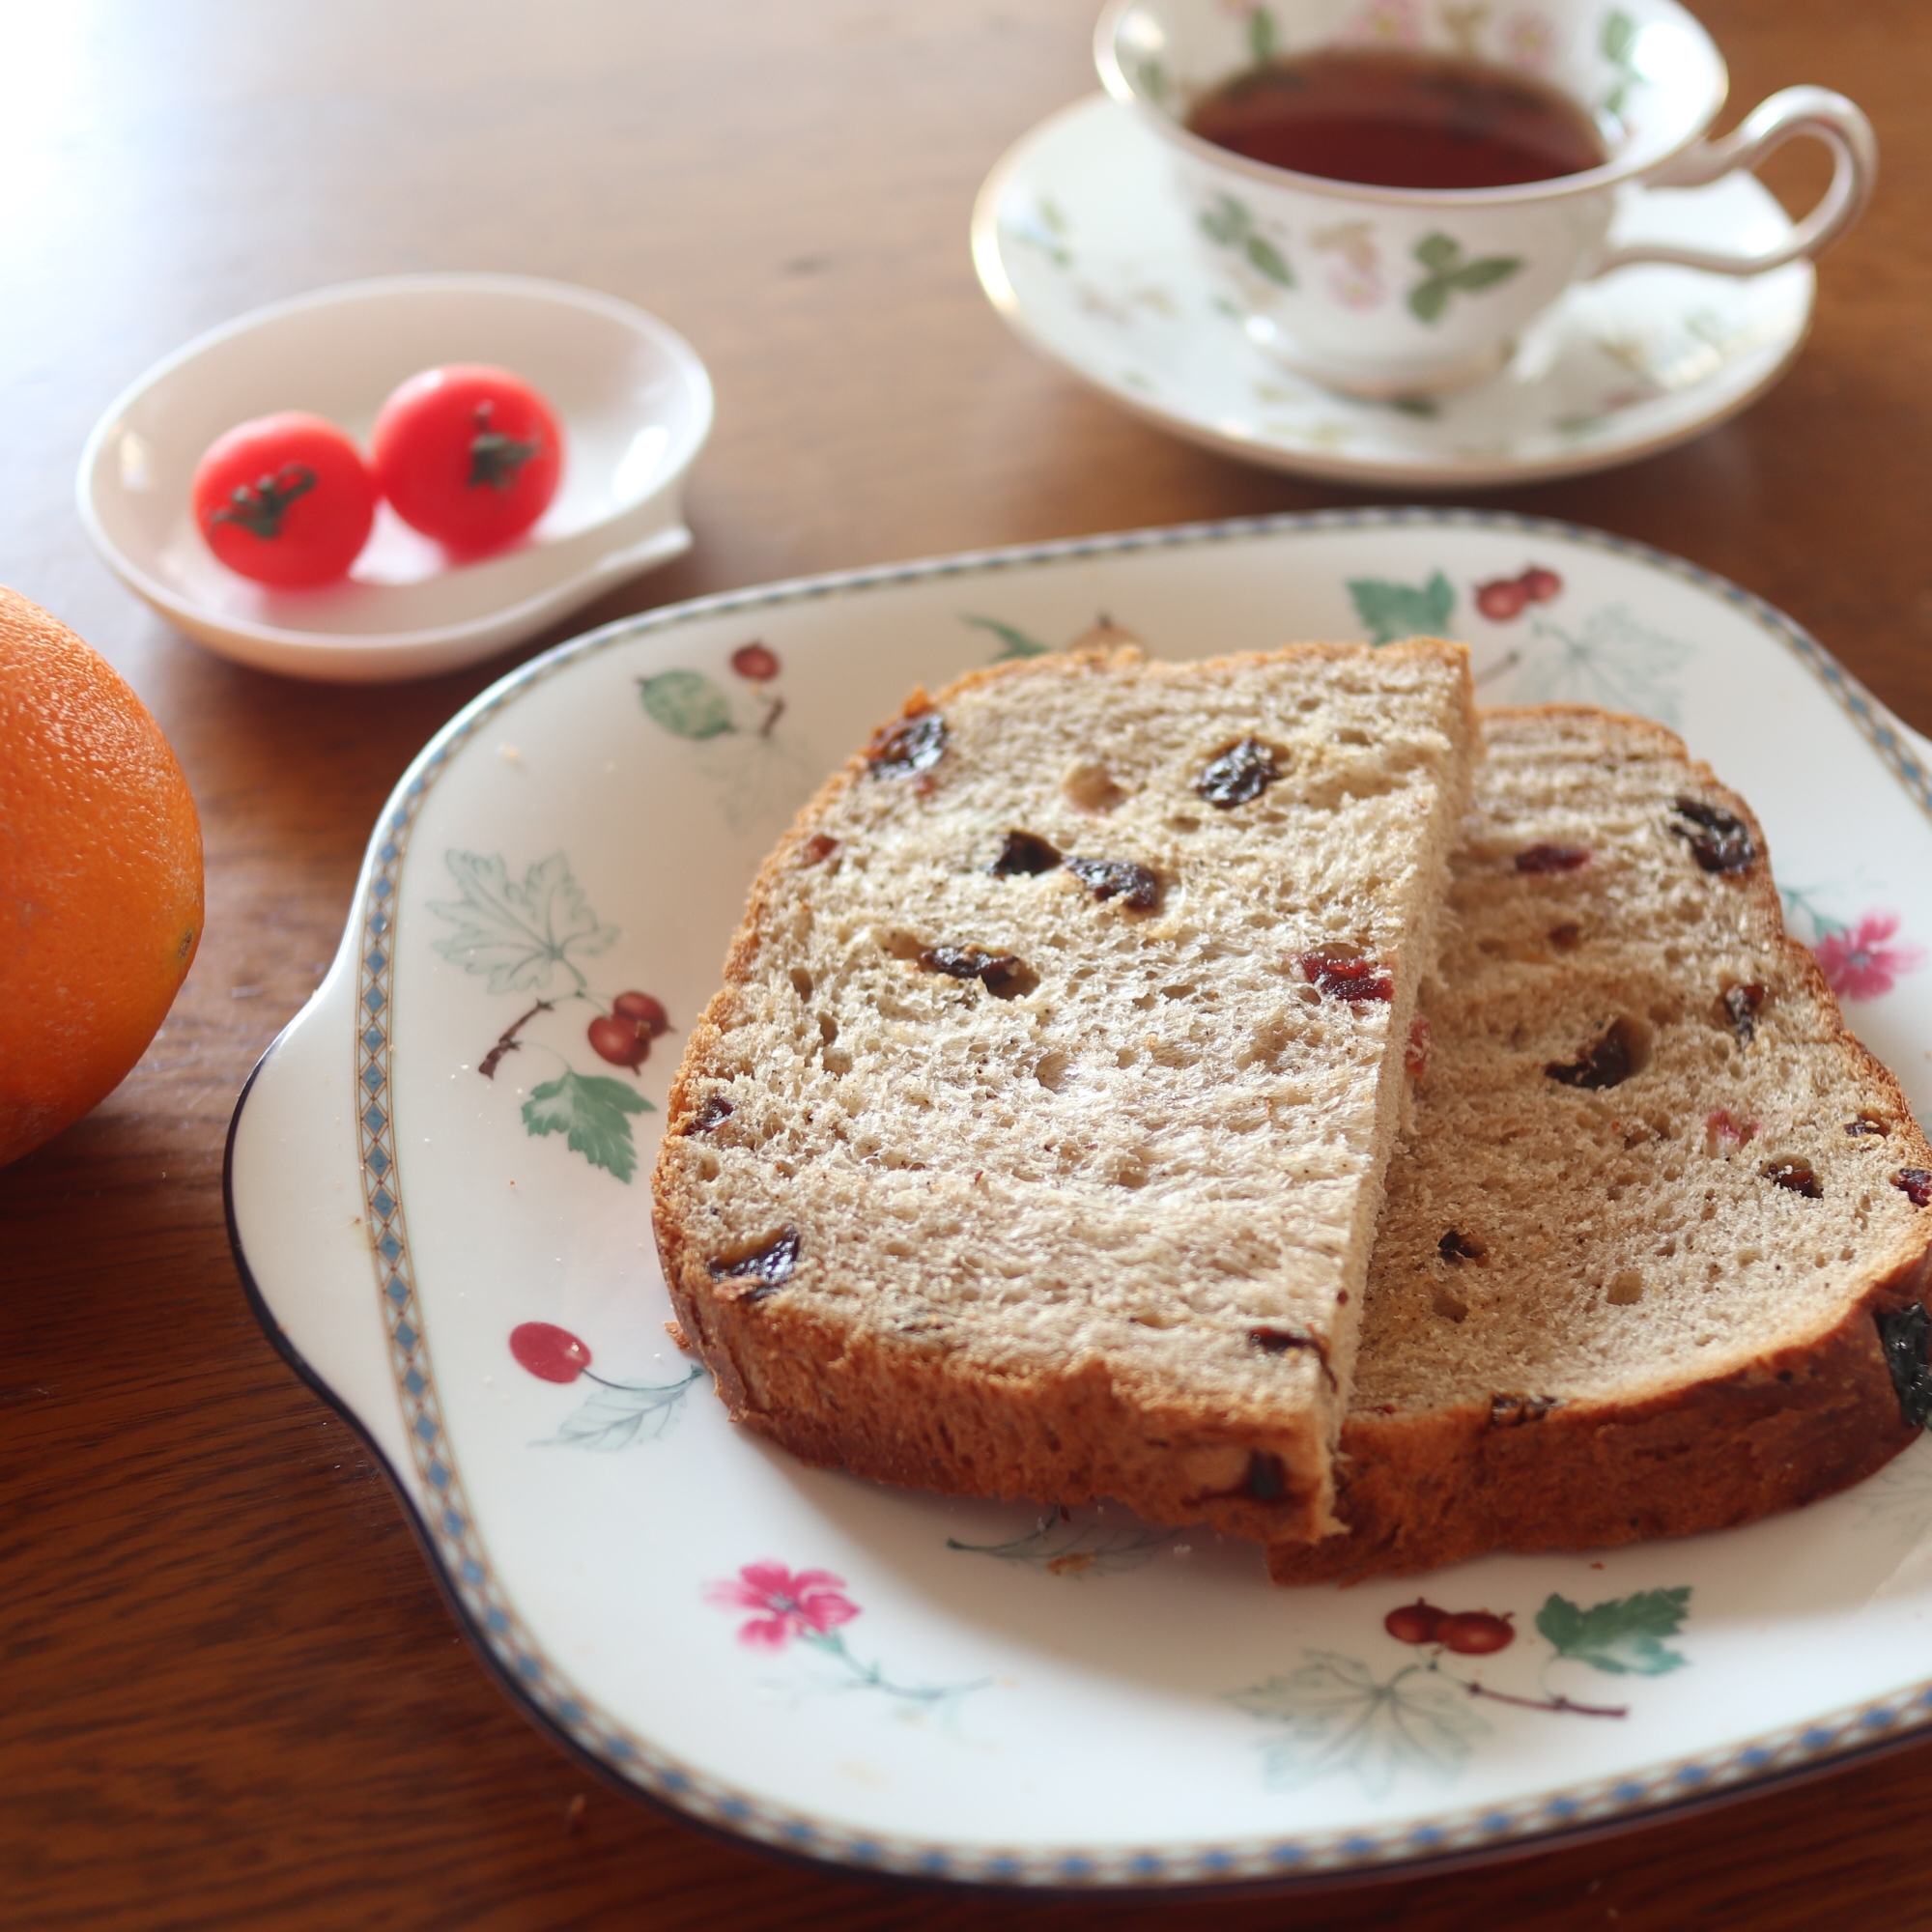
<svg viewBox="0 0 1932 1932">
<path fill-rule="evenodd" d="M 1418 639 L 978 672 L 767 860 L 657 1238 L 810 1463 L 1329 1534 L 1476 726 Z"/>
</svg>

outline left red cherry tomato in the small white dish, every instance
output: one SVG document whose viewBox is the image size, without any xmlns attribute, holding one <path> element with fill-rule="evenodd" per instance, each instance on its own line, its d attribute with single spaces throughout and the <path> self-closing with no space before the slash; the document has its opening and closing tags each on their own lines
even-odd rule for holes
<svg viewBox="0 0 1932 1932">
<path fill-rule="evenodd" d="M 195 466 L 195 527 L 243 578 L 311 589 L 340 578 L 375 522 L 375 477 L 334 423 L 288 410 L 216 437 Z"/>
</svg>

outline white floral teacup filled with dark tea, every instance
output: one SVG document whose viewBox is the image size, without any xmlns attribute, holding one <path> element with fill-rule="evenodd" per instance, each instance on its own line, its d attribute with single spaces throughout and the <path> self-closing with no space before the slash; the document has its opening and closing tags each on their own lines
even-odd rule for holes
<svg viewBox="0 0 1932 1932">
<path fill-rule="evenodd" d="M 1273 168 L 1188 131 L 1194 102 L 1258 60 L 1333 46 L 1526 73 L 1592 116 L 1609 158 L 1511 187 L 1370 187 Z M 1356 394 L 1478 381 L 1573 282 L 1629 263 L 1762 274 L 1818 255 L 1859 218 L 1878 172 L 1870 122 L 1824 87 L 1785 87 L 1706 141 L 1729 75 L 1675 0 L 1111 0 L 1094 54 L 1113 99 L 1171 147 L 1206 259 L 1250 336 Z M 1638 187 L 1714 182 L 1801 133 L 1832 149 L 1832 185 L 1779 247 L 1609 243 Z"/>
</svg>

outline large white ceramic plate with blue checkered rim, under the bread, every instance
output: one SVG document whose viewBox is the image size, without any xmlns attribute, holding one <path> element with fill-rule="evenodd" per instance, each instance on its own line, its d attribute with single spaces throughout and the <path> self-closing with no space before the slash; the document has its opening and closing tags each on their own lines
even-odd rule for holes
<svg viewBox="0 0 1932 1932">
<path fill-rule="evenodd" d="M 1478 589 L 1528 566 L 1559 591 L 1482 616 Z M 1493 1853 L 1932 1721 L 1932 1445 L 1748 1530 L 1432 1575 L 1434 1604 L 1515 1619 L 1463 1658 L 1383 1629 L 1412 1578 L 1275 1590 L 1200 1532 L 808 1470 L 692 1379 L 645 1177 L 753 866 L 908 686 L 1101 614 L 1179 657 L 1443 630 L 1490 699 L 1679 726 L 1762 811 L 1793 929 L 1932 1111 L 1926 746 L 1785 618 L 1658 553 L 1335 512 L 614 624 L 410 769 L 230 1142 L 263 1321 L 386 1461 L 481 1654 L 556 1739 L 697 1820 L 1045 1888 Z M 672 1022 L 638 1074 L 587 1041 L 620 991 Z"/>
</svg>

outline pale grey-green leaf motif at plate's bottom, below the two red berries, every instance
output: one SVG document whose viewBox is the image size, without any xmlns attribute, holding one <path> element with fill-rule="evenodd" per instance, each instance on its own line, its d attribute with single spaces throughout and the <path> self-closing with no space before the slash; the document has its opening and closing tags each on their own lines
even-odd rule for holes
<svg viewBox="0 0 1932 1932">
<path fill-rule="evenodd" d="M 1354 1772 L 1381 1797 L 1399 1772 L 1416 1768 L 1451 1777 L 1472 1741 L 1490 1729 L 1453 1679 L 1408 1663 L 1378 1677 L 1333 1650 L 1310 1650 L 1287 1677 L 1269 1677 L 1227 1700 L 1265 1723 L 1287 1725 L 1264 1750 L 1271 1785 L 1306 1785 L 1331 1772 Z"/>
</svg>

